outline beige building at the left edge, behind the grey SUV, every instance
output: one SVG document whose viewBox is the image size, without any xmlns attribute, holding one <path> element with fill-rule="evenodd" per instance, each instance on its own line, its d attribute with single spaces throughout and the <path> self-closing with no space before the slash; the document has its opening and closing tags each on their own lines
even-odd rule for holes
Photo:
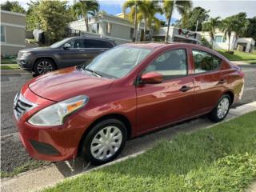
<svg viewBox="0 0 256 192">
<path fill-rule="evenodd" d="M 1 10 L 1 55 L 18 54 L 26 47 L 26 15 Z"/>
</svg>

